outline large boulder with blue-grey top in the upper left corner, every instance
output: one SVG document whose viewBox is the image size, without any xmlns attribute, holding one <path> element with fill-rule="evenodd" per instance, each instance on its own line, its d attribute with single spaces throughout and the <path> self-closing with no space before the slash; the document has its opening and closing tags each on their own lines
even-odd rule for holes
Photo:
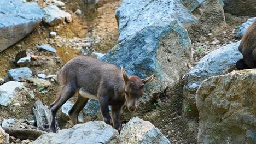
<svg viewBox="0 0 256 144">
<path fill-rule="evenodd" d="M 0 52 L 29 34 L 44 14 L 36 2 L 0 1 Z"/>
</svg>

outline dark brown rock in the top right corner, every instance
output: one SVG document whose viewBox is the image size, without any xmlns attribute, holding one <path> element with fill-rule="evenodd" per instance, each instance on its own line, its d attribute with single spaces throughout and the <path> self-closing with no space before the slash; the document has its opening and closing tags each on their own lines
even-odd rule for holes
<svg viewBox="0 0 256 144">
<path fill-rule="evenodd" d="M 256 16 L 255 0 L 225 0 L 224 10 L 233 15 Z"/>
</svg>

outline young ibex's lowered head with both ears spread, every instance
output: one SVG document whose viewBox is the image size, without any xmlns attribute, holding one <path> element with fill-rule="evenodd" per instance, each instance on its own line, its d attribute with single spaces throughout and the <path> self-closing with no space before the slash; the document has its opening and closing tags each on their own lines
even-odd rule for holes
<svg viewBox="0 0 256 144">
<path fill-rule="evenodd" d="M 125 73 L 124 68 L 121 68 L 125 82 L 125 100 L 128 110 L 134 112 L 137 108 L 137 101 L 144 94 L 144 85 L 153 80 L 153 75 L 145 79 L 138 76 L 129 76 Z"/>
</svg>

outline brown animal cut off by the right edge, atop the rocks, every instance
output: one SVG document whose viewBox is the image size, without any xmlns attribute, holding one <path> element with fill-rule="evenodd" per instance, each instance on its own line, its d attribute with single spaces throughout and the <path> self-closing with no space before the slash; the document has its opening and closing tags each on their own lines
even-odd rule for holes
<svg viewBox="0 0 256 144">
<path fill-rule="evenodd" d="M 256 68 L 256 20 L 249 26 L 239 45 L 243 59 L 236 62 L 238 70 Z"/>
</svg>

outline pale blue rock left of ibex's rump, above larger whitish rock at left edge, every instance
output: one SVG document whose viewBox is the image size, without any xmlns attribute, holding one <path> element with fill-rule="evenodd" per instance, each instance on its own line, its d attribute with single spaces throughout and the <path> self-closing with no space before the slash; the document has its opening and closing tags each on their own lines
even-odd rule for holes
<svg viewBox="0 0 256 144">
<path fill-rule="evenodd" d="M 32 71 L 30 68 L 18 68 L 18 69 L 10 69 L 7 71 L 7 77 L 5 77 L 6 81 L 21 81 L 21 79 L 28 79 L 32 77 Z"/>
</svg>

